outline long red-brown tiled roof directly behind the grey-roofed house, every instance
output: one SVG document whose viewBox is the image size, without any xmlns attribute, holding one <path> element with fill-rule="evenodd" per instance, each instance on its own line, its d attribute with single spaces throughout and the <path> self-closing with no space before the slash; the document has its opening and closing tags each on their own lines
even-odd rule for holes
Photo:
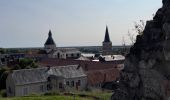
<svg viewBox="0 0 170 100">
<path fill-rule="evenodd" d="M 39 62 L 42 66 L 66 66 L 80 64 L 85 71 L 103 70 L 116 68 L 119 62 L 94 62 L 94 61 L 80 61 L 71 59 L 44 59 Z M 121 62 L 122 64 L 122 62 Z"/>
</svg>

